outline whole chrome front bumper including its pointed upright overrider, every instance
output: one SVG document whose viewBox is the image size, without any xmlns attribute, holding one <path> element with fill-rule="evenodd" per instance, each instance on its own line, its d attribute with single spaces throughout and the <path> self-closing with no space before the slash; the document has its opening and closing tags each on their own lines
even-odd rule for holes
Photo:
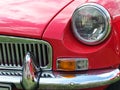
<svg viewBox="0 0 120 90">
<path fill-rule="evenodd" d="M 14 84 L 18 89 L 53 90 L 83 89 L 112 84 L 120 80 L 119 69 L 104 69 L 80 72 L 41 71 L 32 61 L 30 54 L 26 56 L 22 76 L 0 75 L 0 83 Z"/>
</svg>

